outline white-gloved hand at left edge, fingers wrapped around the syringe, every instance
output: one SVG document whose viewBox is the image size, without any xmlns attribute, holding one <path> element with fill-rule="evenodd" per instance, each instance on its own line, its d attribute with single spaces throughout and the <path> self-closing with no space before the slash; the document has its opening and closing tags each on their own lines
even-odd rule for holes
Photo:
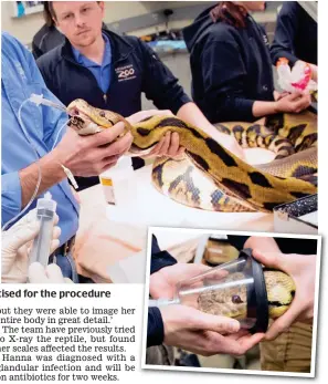
<svg viewBox="0 0 328 384">
<path fill-rule="evenodd" d="M 59 222 L 55 215 L 54 225 Z M 40 224 L 36 221 L 36 209 L 31 210 L 21 218 L 10 229 L 1 233 L 2 251 L 1 251 L 1 280 L 4 283 L 27 282 L 28 279 L 28 260 L 29 243 L 33 240 L 40 230 Z M 59 246 L 59 237 L 61 229 L 54 227 L 53 240 L 51 243 L 51 252 Z"/>
</svg>

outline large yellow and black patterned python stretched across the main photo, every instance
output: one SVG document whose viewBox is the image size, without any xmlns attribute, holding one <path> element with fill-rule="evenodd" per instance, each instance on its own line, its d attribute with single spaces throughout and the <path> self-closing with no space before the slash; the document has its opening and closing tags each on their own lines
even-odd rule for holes
<svg viewBox="0 0 328 384">
<path fill-rule="evenodd" d="M 219 131 L 234 135 L 243 147 L 275 152 L 273 163 L 256 167 L 230 153 L 199 127 L 174 116 L 156 115 L 131 125 L 123 116 L 95 108 L 83 100 L 73 101 L 67 112 L 71 125 L 82 135 L 125 122 L 125 133 L 130 131 L 134 136 L 130 153 L 135 155 L 152 148 L 167 132 L 177 132 L 187 159 L 157 160 L 152 180 L 161 193 L 191 207 L 272 211 L 281 204 L 317 193 L 317 118 L 310 112 L 274 116 L 264 125 L 218 125 Z M 199 185 L 192 176 L 194 168 L 202 174 Z"/>
</svg>

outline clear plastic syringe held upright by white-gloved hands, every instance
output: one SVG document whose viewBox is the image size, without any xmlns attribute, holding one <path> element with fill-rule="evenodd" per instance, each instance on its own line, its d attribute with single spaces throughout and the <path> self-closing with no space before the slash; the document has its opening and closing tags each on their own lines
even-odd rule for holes
<svg viewBox="0 0 328 384">
<path fill-rule="evenodd" d="M 51 193 L 47 191 L 43 198 L 38 199 L 36 219 L 40 221 L 40 232 L 33 241 L 30 263 L 38 261 L 43 267 L 47 266 L 55 211 L 56 201 L 52 199 Z"/>
</svg>

